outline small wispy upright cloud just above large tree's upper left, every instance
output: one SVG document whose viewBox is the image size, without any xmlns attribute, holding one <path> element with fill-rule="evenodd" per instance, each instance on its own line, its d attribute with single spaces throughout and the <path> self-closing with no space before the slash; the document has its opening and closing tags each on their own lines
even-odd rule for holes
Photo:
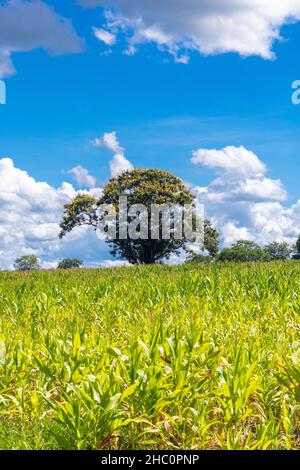
<svg viewBox="0 0 300 470">
<path fill-rule="evenodd" d="M 92 142 L 95 147 L 105 147 L 115 153 L 109 163 L 112 177 L 118 176 L 125 171 L 133 170 L 132 163 L 124 155 L 124 148 L 121 147 L 116 131 L 105 132 L 103 137 L 97 137 Z"/>
</svg>

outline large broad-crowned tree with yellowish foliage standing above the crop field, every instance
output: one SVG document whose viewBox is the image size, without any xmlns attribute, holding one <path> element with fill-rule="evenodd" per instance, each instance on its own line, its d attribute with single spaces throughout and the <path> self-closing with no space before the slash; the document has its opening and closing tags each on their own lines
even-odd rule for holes
<svg viewBox="0 0 300 470">
<path fill-rule="evenodd" d="M 147 236 L 133 239 L 122 238 L 123 230 L 121 218 L 119 217 L 119 198 L 126 196 L 128 208 L 135 204 L 143 204 L 148 210 Z M 175 212 L 174 207 L 192 205 L 195 197 L 187 189 L 182 180 L 171 173 L 163 170 L 131 170 L 109 180 L 103 190 L 102 196 L 96 200 L 88 195 L 78 195 L 74 201 L 65 206 L 65 214 L 61 223 L 60 237 L 71 232 L 74 227 L 90 225 L 99 229 L 101 215 L 99 208 L 110 205 L 116 211 L 116 233 L 113 238 L 107 237 L 113 256 L 126 258 L 131 264 L 152 264 L 167 259 L 172 254 L 178 254 L 181 249 L 186 248 L 190 241 L 183 236 L 178 239 L 175 236 Z M 153 239 L 151 232 L 151 209 L 156 207 L 168 207 L 171 213 L 171 231 L 168 239 L 162 236 L 162 219 L 159 218 L 157 239 Z M 139 218 L 137 214 L 129 214 L 126 224 L 130 225 Z M 193 220 L 196 214 L 193 214 Z M 172 224 L 173 220 L 173 224 Z M 153 224 L 152 224 L 153 228 Z"/>
</svg>

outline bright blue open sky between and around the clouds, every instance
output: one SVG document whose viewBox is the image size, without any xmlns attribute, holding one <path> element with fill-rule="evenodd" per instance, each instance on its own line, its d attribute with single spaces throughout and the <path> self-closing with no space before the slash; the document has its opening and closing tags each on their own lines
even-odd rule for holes
<svg viewBox="0 0 300 470">
<path fill-rule="evenodd" d="M 16 72 L 2 77 L 7 104 L 0 106 L 0 158 L 11 158 L 16 168 L 53 188 L 65 181 L 80 189 L 82 185 L 68 172 L 81 165 L 102 187 L 110 176 L 112 154 L 90 142 L 115 131 L 135 167 L 164 168 L 203 188 L 220 169 L 194 165 L 192 152 L 243 146 L 267 165 L 267 178 L 281 180 L 288 193 L 285 200 L 279 197 L 281 206 L 289 210 L 297 204 L 300 106 L 291 102 L 291 84 L 300 79 L 299 2 L 293 24 L 282 20 L 278 26 L 282 39 L 272 41 L 274 58 L 231 50 L 204 54 L 185 45 L 187 64 L 174 59 L 169 43 L 161 50 L 161 44 L 141 39 L 134 54 L 124 54 L 129 32 L 113 30 L 117 36 L 113 47 L 99 41 L 92 28 L 108 30 L 102 7 L 106 3 L 118 8 L 117 1 L 99 1 L 101 5 L 92 9 L 71 0 L 44 3 L 72 20 L 82 50 L 53 56 L 40 47 L 24 52 L 12 48 Z M 155 8 L 152 13 L 155 17 Z M 0 51 L 1 40 L 0 34 Z M 202 47 L 205 39 L 199 41 Z M 265 202 L 274 204 L 274 198 Z M 216 212 L 212 217 L 217 217 Z M 24 239 L 22 250 L 26 249 L 31 248 Z M 43 256 L 51 258 L 41 252 Z"/>
</svg>

